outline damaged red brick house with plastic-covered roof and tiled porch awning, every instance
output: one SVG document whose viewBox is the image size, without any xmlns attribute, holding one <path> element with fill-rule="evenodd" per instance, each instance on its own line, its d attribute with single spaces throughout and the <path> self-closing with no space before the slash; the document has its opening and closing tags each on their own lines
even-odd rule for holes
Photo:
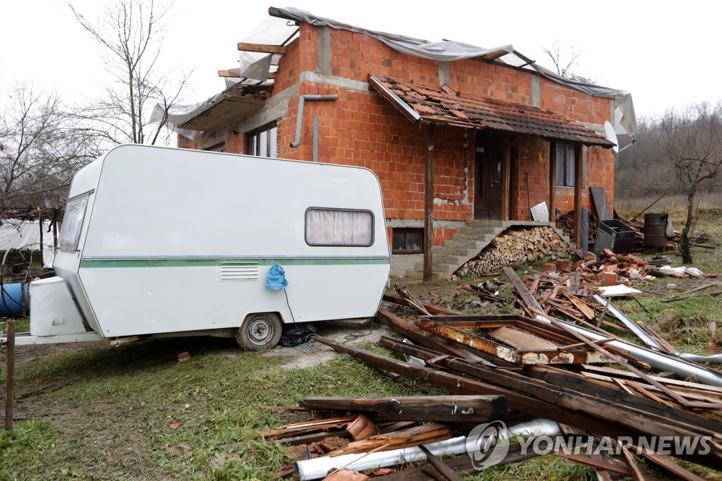
<svg viewBox="0 0 722 481">
<path fill-rule="evenodd" d="M 269 14 L 295 31 L 240 43 L 266 69 L 219 71 L 243 82 L 186 113 L 178 145 L 373 170 L 394 275 L 423 261 L 430 278 L 428 246 L 472 222 L 529 221 L 541 202 L 551 221 L 557 211 L 580 219 L 594 186 L 613 204 L 604 122 L 633 133 L 627 92 L 557 77 L 510 45 L 431 44 L 297 9 Z"/>
</svg>

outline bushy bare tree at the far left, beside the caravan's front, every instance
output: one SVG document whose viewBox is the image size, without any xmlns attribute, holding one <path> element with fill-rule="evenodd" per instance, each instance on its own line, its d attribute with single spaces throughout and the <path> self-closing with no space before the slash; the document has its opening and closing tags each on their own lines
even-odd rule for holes
<svg viewBox="0 0 722 481">
<path fill-rule="evenodd" d="M 56 94 L 19 83 L 0 107 L 0 207 L 59 207 L 71 176 L 98 154 Z"/>
</svg>

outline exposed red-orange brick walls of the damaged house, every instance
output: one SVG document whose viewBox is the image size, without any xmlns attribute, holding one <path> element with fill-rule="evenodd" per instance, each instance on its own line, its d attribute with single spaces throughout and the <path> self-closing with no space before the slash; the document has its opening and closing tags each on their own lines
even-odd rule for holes
<svg viewBox="0 0 722 481">
<path fill-rule="evenodd" d="M 366 82 L 377 74 L 409 82 L 439 86 L 439 63 L 407 56 L 380 40 L 362 33 L 330 30 L 331 74 Z M 315 71 L 318 64 L 318 30 L 300 25 L 299 37 L 287 46 L 279 62 L 274 95 L 295 86 L 303 71 Z M 519 103 L 532 103 L 534 74 L 482 61 L 464 60 L 448 64 L 449 87 L 487 97 Z M 570 118 L 604 123 L 610 115 L 608 98 L 591 97 L 583 92 L 540 78 L 541 108 Z M 298 95 L 338 95 L 336 101 L 305 103 L 300 146 L 290 143 L 295 136 Z M 412 123 L 375 91 L 347 90 L 324 84 L 303 82 L 298 95 L 288 100 L 288 113 L 279 118 L 279 157 L 312 160 L 313 117 L 318 116 L 319 157 L 321 162 L 360 165 L 373 170 L 383 189 L 386 216 L 392 219 L 421 220 L 424 217 L 424 187 L 427 126 Z M 229 136 L 228 152 L 243 152 L 243 134 Z M 464 129 L 435 127 L 435 220 L 469 221 L 474 215 L 474 133 L 464 148 Z M 539 153 L 544 162 L 538 162 Z M 549 143 L 531 137 L 517 137 L 513 144 L 513 196 L 511 216 L 529 218 L 526 173 L 529 173 L 531 205 L 549 200 Z M 604 186 L 612 202 L 614 160 L 611 152 L 591 147 L 586 157 L 584 207 L 591 207 L 588 187 Z M 573 209 L 573 189 L 557 189 L 557 206 L 562 213 Z M 451 238 L 456 229 L 436 229 L 435 243 Z M 389 233 L 390 235 L 390 233 Z"/>
</svg>

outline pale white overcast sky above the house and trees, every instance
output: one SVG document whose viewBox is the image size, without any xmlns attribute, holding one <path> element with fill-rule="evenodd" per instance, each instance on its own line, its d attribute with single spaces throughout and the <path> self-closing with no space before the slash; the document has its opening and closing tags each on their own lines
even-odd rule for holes
<svg viewBox="0 0 722 481">
<path fill-rule="evenodd" d="M 95 18 L 105 0 L 71 3 Z M 219 69 L 237 64 L 236 43 L 268 16 L 244 0 L 175 0 L 162 60 L 193 71 L 187 103 L 224 87 Z M 722 4 L 716 1 L 322 1 L 290 4 L 370 30 L 482 47 L 512 44 L 552 67 L 542 48 L 557 41 L 581 52 L 575 72 L 632 92 L 638 116 L 722 98 L 715 58 Z M 0 84 L 30 79 L 66 98 L 100 94 L 105 81 L 97 46 L 58 0 L 6 1 L 0 24 Z"/>
</svg>

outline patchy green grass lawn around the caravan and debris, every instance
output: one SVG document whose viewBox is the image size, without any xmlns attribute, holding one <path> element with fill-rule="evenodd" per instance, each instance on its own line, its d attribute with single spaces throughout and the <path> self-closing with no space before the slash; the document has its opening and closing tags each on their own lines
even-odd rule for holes
<svg viewBox="0 0 722 481">
<path fill-rule="evenodd" d="M 712 213 L 698 225 L 713 235 L 716 245 L 722 239 L 721 218 L 719 212 Z M 722 271 L 721 249 L 692 252 L 703 272 Z M 710 280 L 648 283 L 645 290 L 662 294 L 639 297 L 649 312 L 632 300 L 615 303 L 630 308 L 632 319 L 651 325 L 664 311 L 677 311 L 683 322 L 664 337 L 680 350 L 706 354 L 709 322 L 720 325 L 718 338 L 722 332 L 721 298 L 701 295 L 663 303 L 671 294 L 666 290 L 669 282 L 677 284 L 674 292 L 679 293 Z M 456 294 L 454 284 L 410 287 L 427 300 L 456 300 L 454 308 L 481 313 L 478 303 L 466 303 L 468 295 Z M 17 330 L 27 330 L 27 321 L 20 321 Z M 324 350 L 293 351 L 297 358 L 325 357 L 310 367 L 290 368 L 292 359 L 284 355 L 288 350 L 243 353 L 227 339 L 149 339 L 121 347 L 105 342 L 19 347 L 18 421 L 12 432 L 0 431 L 0 480 L 269 480 L 291 461 L 291 454 L 264 441 L 261 433 L 297 420 L 293 412 L 274 407 L 294 406 L 309 396 L 422 394 L 412 381 L 392 381 L 343 355 L 326 360 L 330 356 Z M 191 360 L 179 363 L 176 356 L 184 351 L 191 353 Z M 0 381 L 4 383 L 4 372 Z M 697 472 L 722 479 L 718 473 Z M 591 468 L 544 456 L 469 479 L 596 477 Z"/>
</svg>

